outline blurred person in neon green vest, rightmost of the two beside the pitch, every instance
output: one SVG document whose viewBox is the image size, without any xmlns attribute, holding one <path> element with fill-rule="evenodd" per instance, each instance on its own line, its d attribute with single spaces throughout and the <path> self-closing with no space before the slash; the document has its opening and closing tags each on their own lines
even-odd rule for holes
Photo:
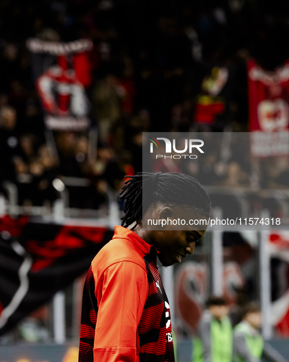
<svg viewBox="0 0 289 362">
<path fill-rule="evenodd" d="M 243 320 L 234 329 L 234 362 L 261 362 L 261 359 L 270 362 L 287 361 L 268 343 L 264 343 L 259 332 L 261 326 L 262 314 L 259 304 L 249 303 L 244 308 Z"/>
</svg>

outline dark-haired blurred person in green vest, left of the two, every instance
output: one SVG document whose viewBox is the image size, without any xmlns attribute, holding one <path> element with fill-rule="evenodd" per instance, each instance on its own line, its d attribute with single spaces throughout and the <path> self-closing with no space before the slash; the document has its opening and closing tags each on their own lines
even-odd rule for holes
<svg viewBox="0 0 289 362">
<path fill-rule="evenodd" d="M 226 301 L 212 296 L 206 307 L 199 322 L 199 337 L 193 340 L 192 362 L 232 362 L 232 325 Z"/>
</svg>

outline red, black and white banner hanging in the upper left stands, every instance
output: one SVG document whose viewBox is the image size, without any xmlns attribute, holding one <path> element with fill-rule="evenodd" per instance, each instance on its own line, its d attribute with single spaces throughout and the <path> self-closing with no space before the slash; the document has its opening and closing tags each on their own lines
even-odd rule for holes
<svg viewBox="0 0 289 362">
<path fill-rule="evenodd" d="M 45 111 L 46 127 L 81 131 L 89 127 L 89 39 L 70 43 L 28 39 L 36 89 Z"/>
</svg>

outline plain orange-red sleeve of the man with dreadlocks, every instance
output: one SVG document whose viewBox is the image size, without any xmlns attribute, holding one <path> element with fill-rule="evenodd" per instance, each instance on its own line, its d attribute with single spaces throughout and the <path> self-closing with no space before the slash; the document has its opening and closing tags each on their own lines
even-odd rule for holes
<svg viewBox="0 0 289 362">
<path fill-rule="evenodd" d="M 105 271 L 96 292 L 93 361 L 137 361 L 137 327 L 148 294 L 146 271 L 133 262 L 113 264 Z"/>
</svg>

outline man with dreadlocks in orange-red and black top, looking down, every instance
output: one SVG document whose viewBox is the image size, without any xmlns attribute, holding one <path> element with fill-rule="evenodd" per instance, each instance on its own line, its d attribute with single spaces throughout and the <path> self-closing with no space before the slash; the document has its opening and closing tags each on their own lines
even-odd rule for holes
<svg viewBox="0 0 289 362">
<path fill-rule="evenodd" d="M 169 302 L 156 258 L 164 266 L 192 254 L 205 233 L 149 219 L 208 218 L 210 199 L 200 183 L 180 173 L 127 176 L 122 226 L 95 256 L 86 278 L 79 362 L 174 362 Z"/>
</svg>

